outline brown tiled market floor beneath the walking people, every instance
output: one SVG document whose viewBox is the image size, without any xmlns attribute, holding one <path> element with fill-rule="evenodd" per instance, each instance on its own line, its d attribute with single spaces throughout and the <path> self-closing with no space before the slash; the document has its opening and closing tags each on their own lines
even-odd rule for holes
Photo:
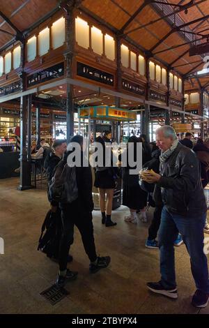
<svg viewBox="0 0 209 328">
<path fill-rule="evenodd" d="M 70 295 L 55 306 L 39 294 L 54 283 L 57 264 L 36 251 L 40 227 L 49 204 L 44 190 L 17 191 L 18 179 L 0 180 L 0 313 L 209 313 L 190 305 L 195 290 L 185 246 L 176 248 L 178 300 L 152 295 L 147 281 L 159 278 L 159 253 L 144 243 L 148 225 L 123 221 L 127 208 L 113 212 L 114 228 L 105 228 L 93 212 L 95 244 L 100 255 L 111 255 L 108 269 L 88 274 L 88 258 L 75 232 L 70 267 L 79 271 L 66 289 Z M 149 213 L 149 222 L 152 212 Z"/>
</svg>

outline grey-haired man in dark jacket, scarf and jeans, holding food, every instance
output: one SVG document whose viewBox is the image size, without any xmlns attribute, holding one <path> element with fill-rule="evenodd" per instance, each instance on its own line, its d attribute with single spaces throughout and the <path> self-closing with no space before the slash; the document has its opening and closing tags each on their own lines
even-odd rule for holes
<svg viewBox="0 0 209 328">
<path fill-rule="evenodd" d="M 145 180 L 156 184 L 154 193 L 164 204 L 159 232 L 161 280 L 147 286 L 157 294 L 178 298 L 173 241 L 179 231 L 191 258 L 196 284 L 192 305 L 205 307 L 209 299 L 208 263 L 203 252 L 207 207 L 199 162 L 193 151 L 179 144 L 171 126 L 162 126 L 155 133 L 162 150 L 160 174 L 150 172 Z"/>
</svg>

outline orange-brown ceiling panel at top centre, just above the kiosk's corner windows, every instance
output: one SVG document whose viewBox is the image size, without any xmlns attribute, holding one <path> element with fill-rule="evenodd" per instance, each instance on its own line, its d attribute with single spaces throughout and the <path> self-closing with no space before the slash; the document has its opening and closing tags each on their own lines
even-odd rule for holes
<svg viewBox="0 0 209 328">
<path fill-rule="evenodd" d="M 84 0 L 82 5 L 116 29 L 121 29 L 130 18 L 130 15 L 124 13 L 110 0 Z"/>
</svg>

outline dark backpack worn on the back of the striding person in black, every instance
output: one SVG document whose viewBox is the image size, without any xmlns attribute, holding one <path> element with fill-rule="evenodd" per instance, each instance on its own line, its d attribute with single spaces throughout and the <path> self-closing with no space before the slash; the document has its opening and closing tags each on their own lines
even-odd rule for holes
<svg viewBox="0 0 209 328">
<path fill-rule="evenodd" d="M 54 175 L 49 182 L 49 198 L 55 202 L 71 203 L 77 200 L 78 188 L 76 168 L 69 167 L 61 160 L 54 169 Z"/>
</svg>

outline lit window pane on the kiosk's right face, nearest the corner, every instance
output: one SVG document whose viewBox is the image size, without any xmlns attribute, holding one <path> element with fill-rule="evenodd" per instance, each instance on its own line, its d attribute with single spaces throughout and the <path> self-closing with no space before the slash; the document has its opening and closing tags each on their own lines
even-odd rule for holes
<svg viewBox="0 0 209 328">
<path fill-rule="evenodd" d="M 75 40 L 81 47 L 88 49 L 89 47 L 89 27 L 85 20 L 77 17 L 75 19 Z"/>
</svg>

